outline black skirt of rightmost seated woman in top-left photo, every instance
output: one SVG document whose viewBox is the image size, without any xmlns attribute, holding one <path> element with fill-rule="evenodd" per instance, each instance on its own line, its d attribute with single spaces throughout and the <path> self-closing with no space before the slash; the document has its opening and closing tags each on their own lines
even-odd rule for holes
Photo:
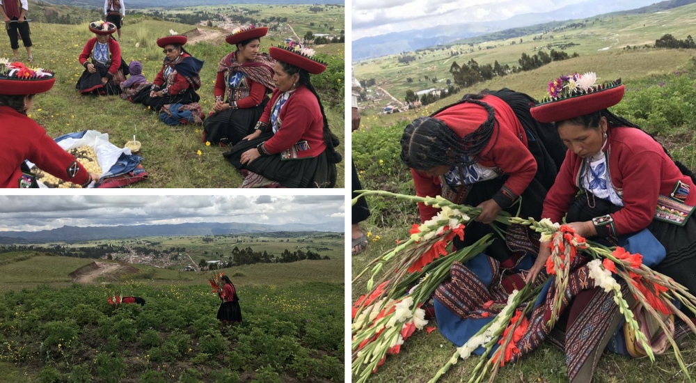
<svg viewBox="0 0 696 383">
<path fill-rule="evenodd" d="M 241 141 L 230 152 L 223 155 L 237 169 L 247 169 L 263 175 L 284 187 L 334 187 L 336 185 L 336 164 L 329 162 L 326 150 L 317 157 L 311 158 L 283 161 L 279 154 L 275 154 L 258 157 L 246 165 L 240 162 L 242 153 L 251 148 L 257 148 L 272 136 L 273 133 L 269 132 L 251 141 Z"/>
</svg>

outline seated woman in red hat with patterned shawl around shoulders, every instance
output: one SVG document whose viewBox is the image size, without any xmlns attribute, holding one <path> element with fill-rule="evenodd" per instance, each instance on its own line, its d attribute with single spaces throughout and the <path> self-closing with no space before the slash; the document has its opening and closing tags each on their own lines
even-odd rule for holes
<svg viewBox="0 0 696 383">
<path fill-rule="evenodd" d="M 274 60 L 259 47 L 268 28 L 251 26 L 227 36 L 237 50 L 223 57 L 215 81 L 215 114 L 203 123 L 203 141 L 235 143 L 253 133 L 274 88 Z"/>
</svg>

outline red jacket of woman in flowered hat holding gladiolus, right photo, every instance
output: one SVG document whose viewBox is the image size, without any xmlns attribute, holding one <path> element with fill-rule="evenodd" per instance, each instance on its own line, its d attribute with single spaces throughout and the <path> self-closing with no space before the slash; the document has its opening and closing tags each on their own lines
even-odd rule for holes
<svg viewBox="0 0 696 383">
<path fill-rule="evenodd" d="M 696 188 L 691 178 L 679 171 L 662 146 L 642 130 L 633 127 L 611 127 L 608 140 L 604 150 L 608 156 L 609 175 L 614 189 L 622 197 L 624 208 L 610 214 L 613 220 L 610 230 L 601 230 L 595 222 L 598 235 L 621 235 L 642 230 L 665 209 L 681 210 L 686 221 L 696 205 Z M 583 158 L 571 150 L 567 151 L 556 181 L 544 200 L 541 217 L 560 222 L 582 187 L 580 176 L 585 167 L 583 163 Z M 677 189 L 678 182 L 683 185 L 681 189 Z M 658 198 L 661 199 L 659 203 Z"/>
</svg>

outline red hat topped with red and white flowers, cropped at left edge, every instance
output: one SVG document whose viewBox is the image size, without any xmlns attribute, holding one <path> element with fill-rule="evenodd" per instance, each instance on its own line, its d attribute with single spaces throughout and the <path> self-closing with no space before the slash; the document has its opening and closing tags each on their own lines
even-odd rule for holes
<svg viewBox="0 0 696 383">
<path fill-rule="evenodd" d="M 32 69 L 23 63 L 0 58 L 0 95 L 35 95 L 44 93 L 56 82 L 53 72 Z"/>
</svg>

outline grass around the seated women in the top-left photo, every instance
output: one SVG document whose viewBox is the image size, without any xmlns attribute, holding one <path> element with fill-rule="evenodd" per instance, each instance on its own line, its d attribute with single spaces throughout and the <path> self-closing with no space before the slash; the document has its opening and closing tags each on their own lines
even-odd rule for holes
<svg viewBox="0 0 696 383">
<path fill-rule="evenodd" d="M 132 60 L 141 61 L 143 74 L 152 81 L 161 68 L 161 60 L 164 58 L 161 48 L 155 44 L 157 38 L 168 35 L 170 29 L 184 33 L 191 28 L 183 24 L 160 22 L 149 17 L 130 18 L 122 29 L 120 41 L 122 56 L 126 63 Z M 137 131 L 139 141 L 143 144 L 143 150 L 140 153 L 143 157 L 142 164 L 150 178 L 145 182 L 134 184 L 134 187 L 237 187 L 241 185 L 241 175 L 222 156 L 227 149 L 205 146 L 205 143 L 201 141 L 202 126 L 170 127 L 161 123 L 157 115 L 143 109 L 141 104 L 131 104 L 121 100 L 120 97 L 83 97 L 77 93 L 74 86 L 84 70 L 79 65 L 77 57 L 85 42 L 94 36 L 89 32 L 86 24 L 66 26 L 33 23 L 31 29 L 35 58 L 33 65 L 56 71 L 56 85 L 48 93 L 36 98 L 31 111 L 31 118 L 45 127 L 49 135 L 55 137 L 81 130 L 98 130 L 108 133 L 111 143 L 122 146 L 132 139 Z M 262 51 L 267 52 L 270 45 L 277 45 L 284 38 L 284 36 L 263 38 Z M 139 47 L 136 47 L 136 44 Z M 342 91 L 336 90 L 338 87 L 342 89 L 342 81 L 335 80 L 335 77 L 343 78 L 343 45 L 331 44 L 324 47 L 317 47 L 317 52 L 322 53 L 326 49 L 328 55 L 325 54 L 324 58 L 330 61 L 333 69 L 320 75 L 323 78 L 313 77 L 313 82 L 322 84 L 318 91 L 322 101 L 327 105 L 325 111 L 329 118 L 329 125 L 343 141 L 345 135 L 343 109 L 328 107 L 331 97 L 335 97 L 334 95 L 342 97 L 343 94 Z M 213 86 L 217 64 L 224 55 L 232 51 L 232 48 L 229 45 L 215 46 L 207 42 L 199 42 L 196 45 L 187 45 L 187 50 L 193 56 L 205 61 L 201 72 L 203 85 L 198 94 L 201 97 L 200 105 L 207 114 L 212 110 L 214 103 Z M 7 56 L 7 53 L 3 56 Z M 26 53 L 20 53 L 19 58 L 26 60 Z M 331 87 L 326 84 L 331 84 Z M 344 148 L 344 143 L 341 143 L 339 152 L 343 153 Z M 338 187 L 345 185 L 343 169 L 344 164 L 338 164 Z"/>
</svg>

